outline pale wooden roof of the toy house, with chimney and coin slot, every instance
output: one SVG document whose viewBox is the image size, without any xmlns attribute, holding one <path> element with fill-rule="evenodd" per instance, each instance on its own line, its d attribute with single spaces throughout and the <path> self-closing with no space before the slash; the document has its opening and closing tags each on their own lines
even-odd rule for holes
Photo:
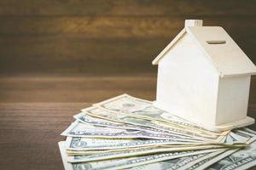
<svg viewBox="0 0 256 170">
<path fill-rule="evenodd" d="M 195 43 L 212 61 L 220 77 L 256 73 L 253 62 L 222 27 L 202 26 L 202 20 L 186 20 L 183 30 L 161 51 L 152 64 L 158 65 L 160 59 L 172 50 L 175 43 L 186 33 L 195 39 Z"/>
</svg>

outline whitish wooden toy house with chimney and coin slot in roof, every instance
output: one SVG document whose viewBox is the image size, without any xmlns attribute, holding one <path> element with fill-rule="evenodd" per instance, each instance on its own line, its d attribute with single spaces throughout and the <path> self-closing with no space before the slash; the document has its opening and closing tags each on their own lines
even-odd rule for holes
<svg viewBox="0 0 256 170">
<path fill-rule="evenodd" d="M 154 105 L 212 131 L 253 124 L 247 116 L 253 62 L 222 27 L 185 20 L 185 27 L 153 60 Z"/>
</svg>

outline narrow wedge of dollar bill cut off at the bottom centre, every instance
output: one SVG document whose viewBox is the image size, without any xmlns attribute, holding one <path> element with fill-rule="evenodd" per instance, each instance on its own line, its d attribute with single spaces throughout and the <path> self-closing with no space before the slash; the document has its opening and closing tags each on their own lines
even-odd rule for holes
<svg viewBox="0 0 256 170">
<path fill-rule="evenodd" d="M 130 170 L 143 170 L 143 169 L 157 169 L 157 170 L 185 170 L 189 167 L 192 167 L 197 162 L 204 161 L 208 158 L 211 158 L 213 156 L 217 156 L 220 153 L 223 153 L 224 150 L 218 150 L 215 152 L 210 153 L 203 153 L 198 154 L 195 156 L 185 156 L 185 157 L 179 157 L 172 160 L 167 161 L 160 161 L 155 163 L 150 163 L 148 165 L 142 165 L 138 167 L 131 167 Z"/>
</svg>

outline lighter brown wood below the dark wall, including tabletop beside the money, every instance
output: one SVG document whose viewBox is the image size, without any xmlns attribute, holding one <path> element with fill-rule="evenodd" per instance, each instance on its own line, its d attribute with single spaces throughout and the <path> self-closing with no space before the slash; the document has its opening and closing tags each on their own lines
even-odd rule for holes
<svg viewBox="0 0 256 170">
<path fill-rule="evenodd" d="M 144 99 L 155 94 L 154 77 L 23 77 L 0 82 L 0 169 L 5 170 L 63 169 L 57 143 L 65 139 L 60 133 L 73 115 L 125 92 Z M 256 118 L 252 101 L 248 115 Z"/>
</svg>

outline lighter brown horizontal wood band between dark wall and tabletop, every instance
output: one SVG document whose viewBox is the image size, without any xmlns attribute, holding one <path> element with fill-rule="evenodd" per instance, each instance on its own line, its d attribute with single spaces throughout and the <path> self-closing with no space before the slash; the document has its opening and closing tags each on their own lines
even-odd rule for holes
<svg viewBox="0 0 256 170">
<path fill-rule="evenodd" d="M 155 99 L 156 75 L 0 77 L 0 103 L 86 102 L 94 103 L 119 94 Z M 250 104 L 256 104 L 256 77 L 251 80 Z"/>
</svg>

